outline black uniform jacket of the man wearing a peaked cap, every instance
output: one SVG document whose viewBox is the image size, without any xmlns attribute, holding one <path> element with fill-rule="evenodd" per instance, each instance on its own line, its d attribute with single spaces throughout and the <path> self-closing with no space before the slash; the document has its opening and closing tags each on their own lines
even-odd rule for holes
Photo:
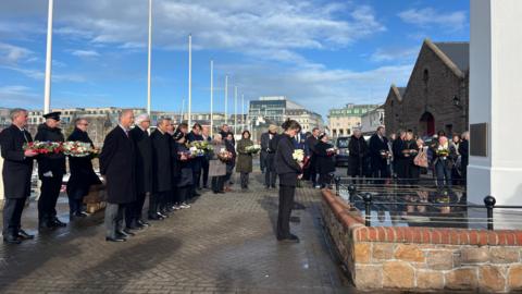
<svg viewBox="0 0 522 294">
<path fill-rule="evenodd" d="M 39 142 L 64 142 L 62 130 L 59 127 L 51 128 L 42 123 L 38 126 L 35 140 Z M 54 176 L 65 174 L 65 156 L 63 154 L 39 155 L 38 175 L 40 179 L 44 173 L 51 171 Z"/>
</svg>

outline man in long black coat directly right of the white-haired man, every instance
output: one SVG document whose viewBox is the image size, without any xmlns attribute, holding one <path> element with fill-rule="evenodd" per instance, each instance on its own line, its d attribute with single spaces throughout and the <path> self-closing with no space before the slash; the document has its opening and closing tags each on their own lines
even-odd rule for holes
<svg viewBox="0 0 522 294">
<path fill-rule="evenodd" d="M 167 127 L 170 119 L 160 119 L 158 128 L 150 135 L 152 142 L 152 195 L 149 203 L 149 220 L 167 217 L 167 200 L 172 193 L 171 135 Z"/>
</svg>

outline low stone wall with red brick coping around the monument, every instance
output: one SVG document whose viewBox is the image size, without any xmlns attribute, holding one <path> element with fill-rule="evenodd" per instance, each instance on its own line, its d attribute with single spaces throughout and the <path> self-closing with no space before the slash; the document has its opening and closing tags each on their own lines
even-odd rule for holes
<svg viewBox="0 0 522 294">
<path fill-rule="evenodd" d="M 358 289 L 522 291 L 522 231 L 366 228 L 327 189 L 322 210 Z"/>
</svg>

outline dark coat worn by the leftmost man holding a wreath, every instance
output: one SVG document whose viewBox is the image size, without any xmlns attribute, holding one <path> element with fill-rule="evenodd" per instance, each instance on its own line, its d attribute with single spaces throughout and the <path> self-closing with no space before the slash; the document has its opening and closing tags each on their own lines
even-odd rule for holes
<svg viewBox="0 0 522 294">
<path fill-rule="evenodd" d="M 24 144 L 33 142 L 29 132 L 14 124 L 0 133 L 0 149 L 3 157 L 3 191 L 5 198 L 20 199 L 30 195 L 33 158 L 25 158 Z"/>
</svg>

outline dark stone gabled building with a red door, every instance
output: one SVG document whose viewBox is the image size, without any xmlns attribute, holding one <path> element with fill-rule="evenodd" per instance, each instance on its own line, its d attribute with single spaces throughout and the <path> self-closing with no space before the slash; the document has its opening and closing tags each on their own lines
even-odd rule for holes
<svg viewBox="0 0 522 294">
<path fill-rule="evenodd" d="M 391 85 L 385 109 L 386 132 L 412 130 L 432 136 L 468 128 L 470 44 L 425 39 L 407 87 Z"/>
</svg>

